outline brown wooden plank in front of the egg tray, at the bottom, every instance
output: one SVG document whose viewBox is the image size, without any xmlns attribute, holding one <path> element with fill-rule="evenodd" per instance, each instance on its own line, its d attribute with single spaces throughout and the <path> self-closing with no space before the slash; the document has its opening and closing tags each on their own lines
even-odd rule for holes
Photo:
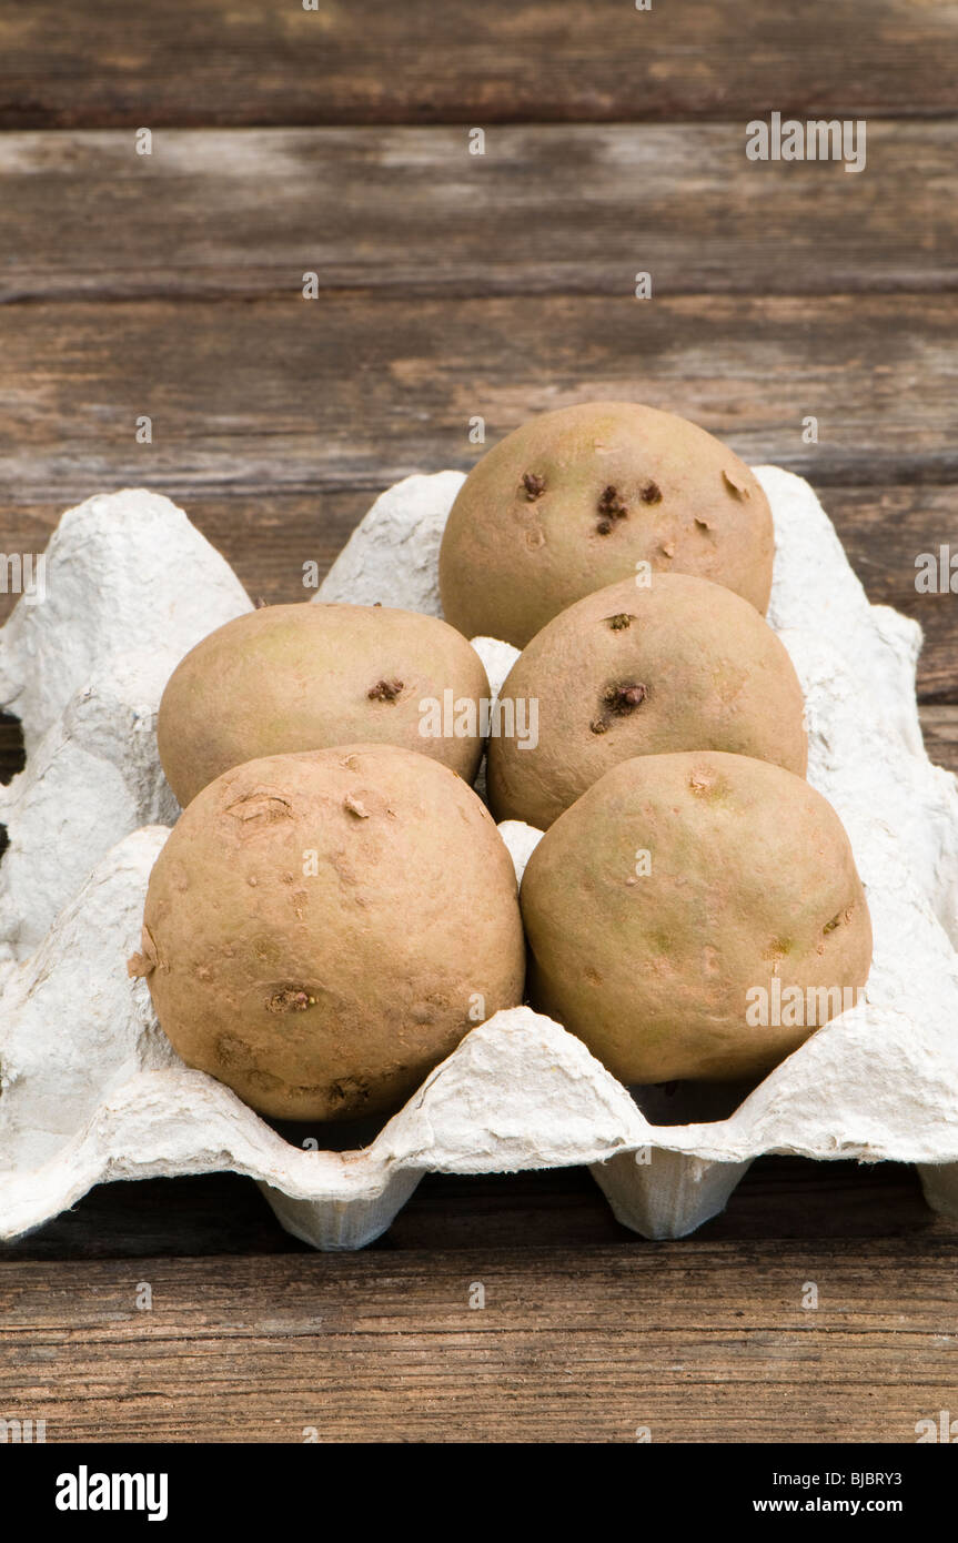
<svg viewBox="0 0 958 1543">
<path fill-rule="evenodd" d="M 955 1258 L 929 1237 L 15 1261 L 0 1407 L 49 1443 L 913 1441 L 953 1409 Z"/>
</svg>

